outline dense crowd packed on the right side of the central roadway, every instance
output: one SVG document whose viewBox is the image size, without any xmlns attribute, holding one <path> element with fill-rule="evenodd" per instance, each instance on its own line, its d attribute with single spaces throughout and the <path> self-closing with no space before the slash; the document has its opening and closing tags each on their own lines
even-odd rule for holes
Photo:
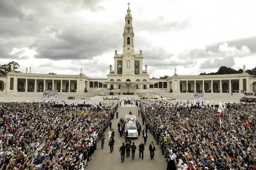
<svg viewBox="0 0 256 170">
<path fill-rule="evenodd" d="M 141 100 L 140 109 L 167 170 L 253 170 L 255 104 Z M 175 166 L 176 165 L 176 166 Z"/>
</svg>

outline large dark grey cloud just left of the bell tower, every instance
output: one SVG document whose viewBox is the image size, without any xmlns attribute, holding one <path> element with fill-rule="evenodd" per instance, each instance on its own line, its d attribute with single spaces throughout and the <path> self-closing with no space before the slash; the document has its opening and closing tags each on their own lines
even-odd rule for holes
<svg viewBox="0 0 256 170">
<path fill-rule="evenodd" d="M 107 30 L 107 34 L 105 33 Z M 122 42 L 121 36 L 104 25 L 68 27 L 54 38 L 36 42 L 35 58 L 53 60 L 90 59 L 114 51 Z"/>
</svg>

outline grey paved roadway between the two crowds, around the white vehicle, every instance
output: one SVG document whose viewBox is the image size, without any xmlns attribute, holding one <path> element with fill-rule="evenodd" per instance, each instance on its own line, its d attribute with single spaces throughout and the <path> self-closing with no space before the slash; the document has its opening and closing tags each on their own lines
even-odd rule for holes
<svg viewBox="0 0 256 170">
<path fill-rule="evenodd" d="M 135 139 L 132 138 L 131 141 L 135 142 L 135 145 L 137 147 L 135 152 L 135 158 L 134 161 L 132 161 L 131 153 L 130 157 L 126 158 L 125 155 L 125 161 L 121 162 L 121 156 L 118 147 L 122 146 L 122 143 L 125 142 L 125 137 L 120 137 L 117 123 L 119 122 L 120 118 L 123 117 L 125 119 L 125 114 L 129 114 L 131 111 L 133 114 L 136 115 L 136 119 L 139 120 L 140 124 L 142 125 L 142 118 L 141 116 L 138 116 L 138 110 L 139 107 L 131 106 L 131 105 L 122 105 L 117 109 L 118 111 L 118 119 L 116 119 L 116 115 L 114 116 L 114 119 L 112 119 L 112 129 L 115 131 L 115 143 L 114 143 L 114 152 L 110 153 L 110 147 L 108 146 L 108 131 L 110 130 L 108 127 L 108 130 L 105 131 L 105 143 L 104 143 L 104 149 L 101 149 L 101 141 L 97 144 L 97 150 L 95 150 L 93 154 L 93 159 L 90 159 L 90 162 L 88 162 L 88 166 L 85 169 L 90 170 L 166 170 L 167 164 L 165 161 L 165 158 L 161 154 L 160 145 L 156 144 L 156 141 L 154 140 L 154 137 L 148 132 L 148 139 L 145 145 L 144 150 L 144 158 L 139 158 L 139 144 L 141 141 L 144 140 L 142 138 L 142 132 L 140 133 L 140 136 Z M 145 128 L 145 125 L 142 125 L 142 129 Z M 151 141 L 154 141 L 155 145 L 155 156 L 154 159 L 150 159 L 150 153 L 149 153 L 149 144 Z"/>
</svg>

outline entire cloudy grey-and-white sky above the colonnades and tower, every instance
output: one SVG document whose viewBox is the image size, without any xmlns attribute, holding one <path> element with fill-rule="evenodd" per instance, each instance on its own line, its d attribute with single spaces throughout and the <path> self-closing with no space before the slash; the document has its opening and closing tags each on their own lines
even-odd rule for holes
<svg viewBox="0 0 256 170">
<path fill-rule="evenodd" d="M 256 67 L 255 0 L 130 0 L 136 53 L 154 77 Z M 0 64 L 106 78 L 128 0 L 0 0 Z"/>
</svg>

